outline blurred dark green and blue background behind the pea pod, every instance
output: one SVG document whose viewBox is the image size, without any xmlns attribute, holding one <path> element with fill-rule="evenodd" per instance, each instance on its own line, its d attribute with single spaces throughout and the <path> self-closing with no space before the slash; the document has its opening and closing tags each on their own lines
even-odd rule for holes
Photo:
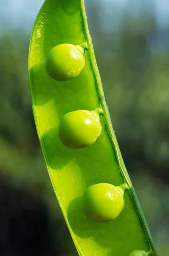
<svg viewBox="0 0 169 256">
<path fill-rule="evenodd" d="M 37 138 L 28 87 L 43 0 L 0 0 L 0 255 L 77 256 Z M 86 0 L 124 162 L 159 256 L 169 255 L 169 3 Z"/>
</svg>

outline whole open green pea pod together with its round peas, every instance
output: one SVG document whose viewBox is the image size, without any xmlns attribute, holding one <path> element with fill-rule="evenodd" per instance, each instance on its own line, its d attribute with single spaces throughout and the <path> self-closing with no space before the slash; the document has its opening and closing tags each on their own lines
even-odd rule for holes
<svg viewBox="0 0 169 256">
<path fill-rule="evenodd" d="M 111 125 L 83 0 L 46 0 L 29 78 L 48 173 L 81 256 L 157 256 Z"/>
</svg>

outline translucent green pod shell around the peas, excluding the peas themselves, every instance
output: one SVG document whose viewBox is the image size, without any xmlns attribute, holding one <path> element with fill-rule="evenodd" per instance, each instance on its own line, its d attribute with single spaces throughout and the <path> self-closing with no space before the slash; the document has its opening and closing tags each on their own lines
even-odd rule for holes
<svg viewBox="0 0 169 256">
<path fill-rule="evenodd" d="M 87 41 L 85 67 L 75 79 L 48 76 L 48 52 L 59 44 Z M 103 49 L 104 50 L 104 49 Z M 128 256 L 152 250 L 157 256 L 144 215 L 118 148 L 104 99 L 83 0 L 46 0 L 31 37 L 29 78 L 34 118 L 54 192 L 73 241 L 82 256 Z M 101 135 L 93 145 L 67 148 L 59 139 L 61 118 L 70 111 L 103 109 Z M 97 183 L 127 183 L 125 207 L 113 221 L 90 221 L 82 209 L 86 189 Z"/>
</svg>

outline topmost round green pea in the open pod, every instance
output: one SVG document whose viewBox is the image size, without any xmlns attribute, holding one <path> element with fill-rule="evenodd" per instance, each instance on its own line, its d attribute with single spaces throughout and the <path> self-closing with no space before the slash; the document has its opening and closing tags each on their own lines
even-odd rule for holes
<svg viewBox="0 0 169 256">
<path fill-rule="evenodd" d="M 46 60 L 48 75 L 56 81 L 66 81 L 79 75 L 85 58 L 73 44 L 59 44 L 51 49 Z"/>
</svg>

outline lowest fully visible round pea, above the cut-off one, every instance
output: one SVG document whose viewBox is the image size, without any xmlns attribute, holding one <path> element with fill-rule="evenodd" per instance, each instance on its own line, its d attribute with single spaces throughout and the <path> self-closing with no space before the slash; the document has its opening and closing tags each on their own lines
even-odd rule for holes
<svg viewBox="0 0 169 256">
<path fill-rule="evenodd" d="M 112 221 L 124 208 L 124 195 L 109 183 L 90 186 L 83 195 L 83 209 L 87 218 L 95 222 Z"/>
</svg>

